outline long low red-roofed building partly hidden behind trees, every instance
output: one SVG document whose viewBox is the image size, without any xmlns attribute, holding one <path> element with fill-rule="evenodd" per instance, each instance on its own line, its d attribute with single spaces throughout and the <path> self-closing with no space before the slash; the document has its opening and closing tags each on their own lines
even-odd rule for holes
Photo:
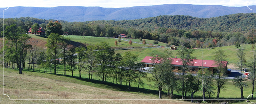
<svg viewBox="0 0 256 104">
<path fill-rule="evenodd" d="M 144 62 L 146 67 L 152 67 L 153 62 L 152 59 L 153 57 L 151 56 L 146 56 L 141 62 Z M 171 58 L 172 62 L 171 64 L 174 66 L 174 70 L 178 70 L 179 67 L 182 67 L 182 62 L 180 58 Z M 213 72 L 214 68 L 218 67 L 218 65 L 214 64 L 215 61 L 213 60 L 198 60 L 198 59 L 193 59 L 193 64 L 189 65 L 190 67 L 193 68 L 193 70 L 198 71 L 200 68 L 208 68 L 211 72 Z M 159 63 L 158 60 L 155 60 L 155 63 Z M 225 68 L 227 70 L 227 61 L 223 61 L 225 64 Z"/>
</svg>

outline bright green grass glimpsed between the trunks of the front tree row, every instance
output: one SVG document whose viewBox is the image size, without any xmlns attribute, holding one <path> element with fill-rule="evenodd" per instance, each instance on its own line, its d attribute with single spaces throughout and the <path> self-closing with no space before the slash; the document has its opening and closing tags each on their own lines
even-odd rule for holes
<svg viewBox="0 0 256 104">
<path fill-rule="evenodd" d="M 64 73 L 64 70 L 63 70 L 63 66 L 59 66 L 59 69 L 57 69 L 58 71 L 58 74 L 60 76 L 62 76 L 62 73 Z M 42 68 L 40 69 L 40 72 L 42 73 Z M 27 71 L 27 70 L 26 70 Z M 30 70 L 31 71 L 31 70 Z M 35 69 L 35 71 L 39 72 L 38 69 Z M 52 70 L 53 72 L 53 70 Z M 50 73 L 50 70 L 47 70 L 47 73 Z M 45 74 L 45 73 L 44 73 Z M 78 78 L 79 76 L 79 71 L 74 71 L 74 77 L 73 78 Z M 71 76 L 71 73 L 69 71 L 66 71 L 66 75 L 69 76 L 69 77 L 72 77 Z M 147 74 L 148 77 L 151 77 L 152 75 L 150 73 Z M 82 78 L 89 78 L 89 75 L 88 75 L 88 72 L 87 71 L 82 71 L 81 73 L 81 77 Z M 101 82 L 101 78 L 99 78 L 99 76 L 96 75 L 96 73 L 94 73 L 94 81 L 99 81 Z M 157 95 L 157 88 L 155 87 L 152 87 L 154 86 L 154 82 L 151 82 L 151 81 L 148 81 L 147 78 L 142 78 L 142 80 L 144 81 L 144 86 L 140 85 L 140 88 L 142 89 L 147 89 L 147 90 L 151 90 L 153 91 L 152 94 L 155 94 Z M 107 78 L 107 82 L 109 82 L 111 85 L 113 84 L 113 79 L 112 78 Z M 115 85 L 116 82 L 114 82 L 114 85 Z M 128 88 L 128 86 L 126 85 L 126 82 L 123 82 L 123 87 L 126 89 Z M 246 84 L 248 85 L 247 87 L 244 88 L 244 96 L 245 98 L 247 98 L 247 96 L 249 96 L 251 94 L 251 91 L 252 91 L 252 83 L 250 81 L 247 81 Z M 100 85 L 91 85 L 93 87 L 101 87 Z M 137 83 L 131 83 L 131 86 L 135 89 L 137 89 L 138 87 L 138 84 Z M 220 94 L 220 98 L 224 97 L 224 99 L 227 99 L 227 98 L 231 98 L 231 99 L 234 99 L 234 98 L 239 98 L 240 96 L 240 89 L 239 88 L 235 88 L 235 86 L 233 85 L 233 82 L 232 80 L 230 79 L 229 81 L 227 81 L 226 83 L 226 88 L 225 90 L 222 90 L 221 91 L 221 94 Z M 166 89 L 163 90 L 164 92 L 167 92 Z M 141 91 L 142 92 L 142 91 Z M 215 91 L 217 92 L 217 91 Z M 177 94 L 177 95 L 181 95 L 180 92 L 176 92 L 174 91 L 174 94 Z M 190 95 L 190 93 L 187 94 L 188 96 Z M 198 91 L 194 94 L 195 96 L 198 97 L 202 97 L 202 92 Z M 211 99 L 215 99 L 215 96 L 216 95 L 212 95 L 212 98 Z M 179 98 L 177 98 L 179 99 Z"/>
</svg>

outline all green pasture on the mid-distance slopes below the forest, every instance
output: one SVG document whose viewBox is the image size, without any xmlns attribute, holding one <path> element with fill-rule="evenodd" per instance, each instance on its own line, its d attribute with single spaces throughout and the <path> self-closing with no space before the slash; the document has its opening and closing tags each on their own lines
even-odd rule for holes
<svg viewBox="0 0 256 104">
<path fill-rule="evenodd" d="M 40 36 L 31 35 L 32 38 L 40 39 L 46 41 L 47 39 Z M 115 40 L 114 38 L 106 38 L 106 37 L 92 37 L 92 36 L 65 36 L 70 38 L 70 40 L 75 42 L 81 42 L 88 45 L 95 45 L 100 42 L 108 42 L 111 47 L 115 47 Z M 139 41 L 139 39 L 133 39 L 135 41 Z M 149 41 L 149 40 L 146 40 Z M 151 40 L 154 42 L 154 40 Z M 133 45 L 129 45 L 129 42 L 123 41 L 121 42 L 122 45 L 118 45 L 117 47 L 144 47 L 142 44 L 133 43 Z M 146 47 L 146 45 L 145 45 Z M 252 57 L 252 44 L 241 45 L 241 47 L 245 48 L 246 60 L 250 61 Z M 179 48 L 179 47 L 178 47 Z M 197 59 L 204 59 L 204 60 L 214 60 L 213 54 L 214 51 L 222 49 L 224 53 L 227 55 L 227 61 L 229 64 L 237 64 L 237 57 L 236 51 L 237 48 L 234 45 L 231 46 L 224 46 L 224 47 L 216 47 L 216 48 L 205 48 L 205 49 L 192 49 L 195 50 L 192 56 L 197 57 Z M 115 53 L 120 53 L 123 55 L 126 51 L 131 51 L 131 53 L 138 54 L 138 62 L 142 61 L 144 57 L 150 56 L 152 53 L 164 53 L 165 48 L 136 48 L 136 49 L 129 49 L 129 50 L 115 50 Z M 177 55 L 177 50 L 173 51 L 173 57 Z M 179 58 L 179 57 L 178 57 Z"/>
</svg>

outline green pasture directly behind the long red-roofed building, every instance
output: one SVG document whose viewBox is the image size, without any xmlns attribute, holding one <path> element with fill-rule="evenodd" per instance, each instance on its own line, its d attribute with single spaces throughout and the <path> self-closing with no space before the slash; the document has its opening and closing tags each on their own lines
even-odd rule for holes
<svg viewBox="0 0 256 104">
<path fill-rule="evenodd" d="M 248 45 L 242 45 L 243 48 L 245 48 L 245 54 L 246 54 L 246 60 L 250 61 L 252 60 L 251 58 L 253 57 L 253 52 L 251 51 L 252 44 Z M 204 60 L 214 60 L 214 51 L 217 51 L 219 49 L 222 49 L 224 53 L 227 55 L 227 61 L 229 63 L 237 64 L 237 48 L 232 45 L 232 46 L 224 46 L 224 47 L 216 47 L 216 48 L 205 48 L 205 49 L 190 49 L 190 50 L 195 50 L 192 56 L 197 57 L 197 59 L 204 59 Z M 131 49 L 131 50 L 116 50 L 115 53 L 125 53 L 126 51 L 130 51 L 131 53 L 138 54 L 138 62 L 142 61 L 145 56 L 150 56 L 151 53 L 164 53 L 165 48 L 139 48 L 139 49 Z M 178 50 L 173 51 L 173 57 L 177 56 Z"/>
</svg>

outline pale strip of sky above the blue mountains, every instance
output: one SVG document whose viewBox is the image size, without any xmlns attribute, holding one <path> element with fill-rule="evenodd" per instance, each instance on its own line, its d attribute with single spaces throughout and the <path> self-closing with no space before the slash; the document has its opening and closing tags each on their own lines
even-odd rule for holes
<svg viewBox="0 0 256 104">
<path fill-rule="evenodd" d="M 99 6 L 104 8 L 124 8 L 133 6 L 162 5 L 170 3 L 240 7 L 247 5 L 256 5 L 256 0 L 2 0 L 0 3 L 0 8 L 14 6 Z"/>
</svg>

